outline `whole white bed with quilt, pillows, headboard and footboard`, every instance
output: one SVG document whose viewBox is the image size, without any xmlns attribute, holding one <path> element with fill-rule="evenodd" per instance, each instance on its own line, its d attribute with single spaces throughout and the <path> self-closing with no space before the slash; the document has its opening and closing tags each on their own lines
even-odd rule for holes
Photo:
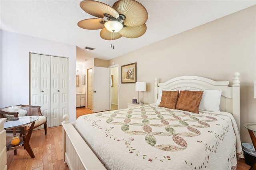
<svg viewBox="0 0 256 170">
<path fill-rule="evenodd" d="M 232 86 L 197 76 L 155 79 L 150 105 L 74 123 L 64 115 L 64 163 L 70 170 L 236 169 L 243 152 L 239 73 L 233 76 Z"/>
</svg>

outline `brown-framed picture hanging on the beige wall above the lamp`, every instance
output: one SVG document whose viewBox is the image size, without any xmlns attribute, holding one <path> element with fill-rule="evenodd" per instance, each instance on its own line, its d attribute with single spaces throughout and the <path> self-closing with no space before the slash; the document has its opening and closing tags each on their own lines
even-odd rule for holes
<svg viewBox="0 0 256 170">
<path fill-rule="evenodd" d="M 136 79 L 137 79 L 136 65 L 137 63 L 122 65 L 121 67 L 122 83 L 136 83 Z"/>
</svg>

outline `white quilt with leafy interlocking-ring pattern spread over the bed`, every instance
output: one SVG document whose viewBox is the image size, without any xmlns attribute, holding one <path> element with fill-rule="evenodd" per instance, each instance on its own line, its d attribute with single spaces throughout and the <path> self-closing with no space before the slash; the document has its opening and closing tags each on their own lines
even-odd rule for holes
<svg viewBox="0 0 256 170">
<path fill-rule="evenodd" d="M 109 170 L 229 170 L 242 158 L 230 113 L 150 104 L 79 117 L 74 127 Z"/>
</svg>

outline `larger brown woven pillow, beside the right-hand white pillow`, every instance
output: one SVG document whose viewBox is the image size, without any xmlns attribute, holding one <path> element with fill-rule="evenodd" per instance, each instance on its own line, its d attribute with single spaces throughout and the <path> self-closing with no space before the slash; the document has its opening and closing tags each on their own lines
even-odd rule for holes
<svg viewBox="0 0 256 170">
<path fill-rule="evenodd" d="M 199 113 L 198 108 L 204 91 L 180 91 L 176 109 Z"/>
</svg>

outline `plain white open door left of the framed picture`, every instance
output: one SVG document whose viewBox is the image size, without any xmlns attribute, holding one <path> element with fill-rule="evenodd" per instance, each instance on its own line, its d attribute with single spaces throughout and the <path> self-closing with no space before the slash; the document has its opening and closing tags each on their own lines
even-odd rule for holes
<svg viewBox="0 0 256 170">
<path fill-rule="evenodd" d="M 93 67 L 93 111 L 110 110 L 110 75 L 109 68 Z"/>
</svg>

